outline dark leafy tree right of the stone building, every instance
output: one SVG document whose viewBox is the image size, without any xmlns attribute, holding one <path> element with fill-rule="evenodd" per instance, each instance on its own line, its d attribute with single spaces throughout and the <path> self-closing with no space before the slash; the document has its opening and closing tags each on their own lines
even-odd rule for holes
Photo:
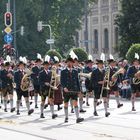
<svg viewBox="0 0 140 140">
<path fill-rule="evenodd" d="M 140 1 L 121 0 L 121 14 L 117 17 L 116 25 L 119 26 L 120 44 L 119 52 L 125 57 L 133 43 L 140 42 Z"/>
</svg>

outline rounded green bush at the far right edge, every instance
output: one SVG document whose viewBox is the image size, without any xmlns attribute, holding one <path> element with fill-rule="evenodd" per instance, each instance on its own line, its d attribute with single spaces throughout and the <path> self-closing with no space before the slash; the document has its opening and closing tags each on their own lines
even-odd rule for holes
<svg viewBox="0 0 140 140">
<path fill-rule="evenodd" d="M 140 56 L 140 44 L 133 44 L 127 54 L 126 54 L 126 58 L 128 59 L 129 62 L 132 62 L 135 58 L 135 53 L 138 53 L 138 55 Z"/>
</svg>

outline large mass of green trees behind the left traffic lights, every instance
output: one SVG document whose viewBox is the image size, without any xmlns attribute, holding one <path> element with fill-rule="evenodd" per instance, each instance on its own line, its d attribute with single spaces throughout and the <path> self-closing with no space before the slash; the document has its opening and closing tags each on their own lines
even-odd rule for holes
<svg viewBox="0 0 140 140">
<path fill-rule="evenodd" d="M 37 31 L 37 21 L 52 27 L 52 35 L 55 38 L 53 49 L 63 55 L 75 46 L 74 37 L 76 31 L 81 28 L 81 19 L 84 15 L 85 0 L 16 0 L 16 25 L 17 30 L 25 27 L 25 34 L 21 36 L 17 32 L 17 50 L 19 56 L 35 58 L 37 53 L 45 55 L 49 45 L 45 43 L 49 39 L 49 28 L 44 27 L 42 32 Z M 88 4 L 93 0 L 89 0 Z M 7 1 L 0 4 L 0 30 L 4 29 L 3 15 L 6 12 Z M 13 0 L 11 0 L 11 12 L 13 13 Z M 13 27 L 12 27 L 13 29 Z M 3 35 L 0 34 L 0 46 L 4 44 Z"/>
</svg>

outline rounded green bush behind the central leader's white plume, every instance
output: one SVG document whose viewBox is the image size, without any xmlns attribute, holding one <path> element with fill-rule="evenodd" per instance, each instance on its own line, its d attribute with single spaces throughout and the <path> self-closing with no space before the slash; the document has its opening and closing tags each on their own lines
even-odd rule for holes
<svg viewBox="0 0 140 140">
<path fill-rule="evenodd" d="M 80 62 L 88 59 L 88 54 L 82 48 L 74 48 L 73 51 Z"/>
</svg>

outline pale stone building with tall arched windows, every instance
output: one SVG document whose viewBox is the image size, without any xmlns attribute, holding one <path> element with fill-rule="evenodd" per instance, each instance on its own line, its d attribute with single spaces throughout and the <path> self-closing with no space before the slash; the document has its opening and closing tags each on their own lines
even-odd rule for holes
<svg viewBox="0 0 140 140">
<path fill-rule="evenodd" d="M 91 6 L 91 12 L 87 17 L 88 29 L 88 53 L 99 58 L 103 52 L 106 57 L 109 54 L 117 57 L 115 51 L 118 45 L 118 27 L 114 24 L 119 13 L 119 0 L 95 0 Z M 77 45 L 85 50 L 85 22 L 77 34 Z"/>
</svg>

